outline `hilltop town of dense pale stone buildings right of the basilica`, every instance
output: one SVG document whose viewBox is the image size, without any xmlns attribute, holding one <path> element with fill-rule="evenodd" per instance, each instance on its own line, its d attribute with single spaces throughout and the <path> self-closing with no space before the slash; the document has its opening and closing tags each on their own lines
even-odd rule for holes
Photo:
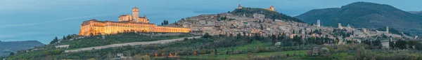
<svg viewBox="0 0 422 60">
<path fill-rule="evenodd" d="M 239 7 L 236 9 L 242 8 L 239 4 Z M 271 9 L 274 9 L 274 6 L 266 10 Z M 319 20 L 317 24 L 306 24 L 302 22 L 269 19 L 259 13 L 253 13 L 252 17 L 234 15 L 232 13 L 198 15 L 179 20 L 174 25 L 190 28 L 191 33 L 210 33 L 210 35 L 236 35 L 238 33 L 243 35 L 245 33 L 247 36 L 253 36 L 255 33 L 260 34 L 260 36 L 287 34 L 290 38 L 293 38 L 293 36 L 303 36 L 302 38 L 328 37 L 338 39 L 340 41 L 338 44 L 345 44 L 348 40 L 359 43 L 362 40 L 376 40 L 379 36 L 388 36 L 389 38 L 384 38 L 385 42 L 388 42 L 388 40 L 414 40 L 417 38 L 417 36 L 411 37 L 404 34 L 390 33 L 388 27 L 386 27 L 386 31 L 353 28 L 348 24 L 347 27 L 343 27 L 341 23 L 338 23 L 338 27 L 324 27 L 321 26 Z"/>
</svg>

